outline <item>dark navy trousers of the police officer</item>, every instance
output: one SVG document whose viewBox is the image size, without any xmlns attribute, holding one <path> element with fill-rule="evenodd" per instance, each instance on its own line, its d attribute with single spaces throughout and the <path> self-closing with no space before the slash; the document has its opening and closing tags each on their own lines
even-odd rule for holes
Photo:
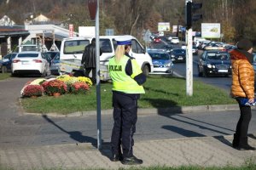
<svg viewBox="0 0 256 170">
<path fill-rule="evenodd" d="M 113 154 L 133 156 L 133 134 L 136 132 L 137 99 L 113 92 L 113 130 L 111 147 Z M 121 148 L 122 147 L 122 148 Z"/>
</svg>

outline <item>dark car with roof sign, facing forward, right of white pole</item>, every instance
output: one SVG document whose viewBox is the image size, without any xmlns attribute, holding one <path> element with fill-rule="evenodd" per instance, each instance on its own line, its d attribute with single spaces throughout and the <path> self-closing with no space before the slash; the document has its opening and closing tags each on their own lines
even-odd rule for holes
<svg viewBox="0 0 256 170">
<path fill-rule="evenodd" d="M 231 74 L 230 54 L 222 50 L 206 50 L 201 54 L 198 62 L 198 76 Z"/>
</svg>

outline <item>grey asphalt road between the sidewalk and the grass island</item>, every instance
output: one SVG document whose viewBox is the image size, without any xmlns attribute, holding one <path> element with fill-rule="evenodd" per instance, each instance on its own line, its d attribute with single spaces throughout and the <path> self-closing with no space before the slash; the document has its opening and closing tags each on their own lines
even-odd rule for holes
<svg viewBox="0 0 256 170">
<path fill-rule="evenodd" d="M 18 105 L 20 89 L 30 79 L 20 77 L 0 82 L 0 147 L 96 143 L 96 116 L 23 114 Z M 139 115 L 135 140 L 228 135 L 234 133 L 238 116 L 239 111 Z M 253 116 L 249 133 L 256 132 L 255 122 Z M 102 116 L 104 142 L 110 141 L 112 127 L 112 116 Z"/>
</svg>

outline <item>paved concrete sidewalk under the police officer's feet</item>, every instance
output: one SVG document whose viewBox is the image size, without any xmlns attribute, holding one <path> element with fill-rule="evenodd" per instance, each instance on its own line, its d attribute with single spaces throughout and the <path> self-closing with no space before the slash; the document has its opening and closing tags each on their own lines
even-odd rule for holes
<svg viewBox="0 0 256 170">
<path fill-rule="evenodd" d="M 235 150 L 231 145 L 232 136 L 200 137 L 184 139 L 148 140 L 135 142 L 134 154 L 149 166 L 241 166 L 245 162 L 256 162 L 256 151 Z M 249 143 L 256 146 L 255 137 Z M 58 168 L 129 168 L 109 158 L 109 144 L 102 144 L 99 151 L 91 144 L 64 144 L 50 146 L 12 146 L 0 148 L 0 167 L 15 169 Z"/>
</svg>

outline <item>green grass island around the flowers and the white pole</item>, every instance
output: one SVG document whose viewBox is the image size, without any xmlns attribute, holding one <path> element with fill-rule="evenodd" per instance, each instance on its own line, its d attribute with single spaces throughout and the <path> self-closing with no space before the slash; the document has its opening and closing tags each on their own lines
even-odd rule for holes
<svg viewBox="0 0 256 170">
<path fill-rule="evenodd" d="M 177 77 L 149 76 L 144 84 L 146 94 L 138 101 L 139 108 L 167 108 L 191 105 L 236 104 L 229 93 L 220 88 L 194 81 L 193 96 L 186 95 L 186 80 Z M 112 84 L 101 83 L 102 110 L 112 108 Z M 75 111 L 96 111 L 96 86 L 87 94 L 64 94 L 58 98 L 44 95 L 37 99 L 21 99 L 26 112 L 68 114 Z"/>
</svg>

